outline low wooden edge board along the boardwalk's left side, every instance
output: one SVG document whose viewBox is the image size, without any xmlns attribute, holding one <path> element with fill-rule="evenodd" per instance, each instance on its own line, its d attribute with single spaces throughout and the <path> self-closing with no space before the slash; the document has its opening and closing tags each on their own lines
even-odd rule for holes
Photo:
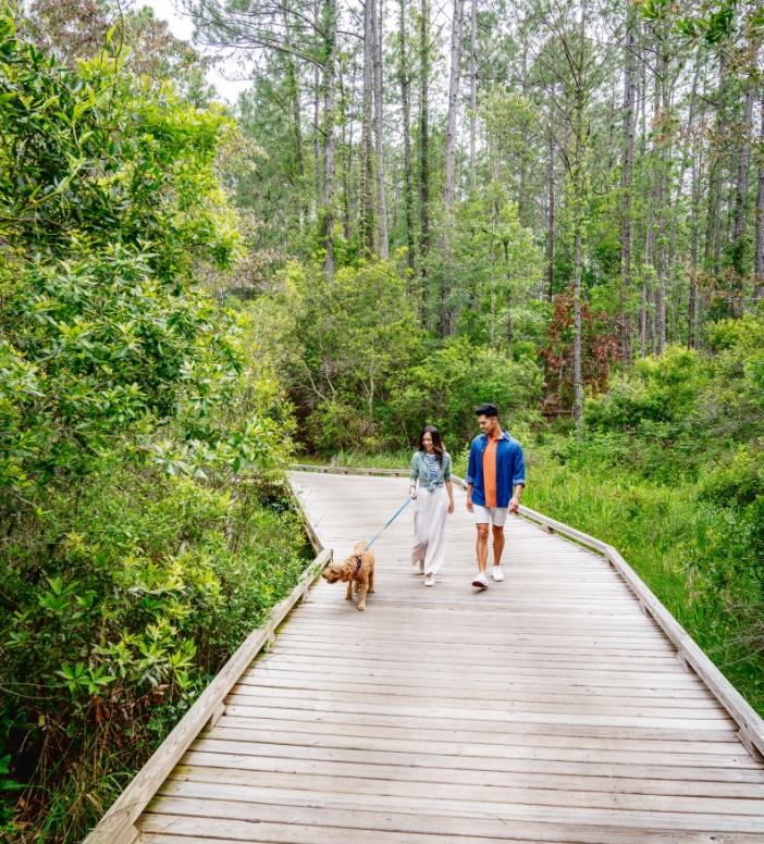
<svg viewBox="0 0 764 844">
<path fill-rule="evenodd" d="M 301 508 L 299 509 L 301 513 Z M 307 522 L 307 519 L 306 519 Z M 309 532 L 313 547 L 320 547 L 318 537 Z M 294 589 L 271 610 L 267 622 L 254 630 L 223 666 L 198 700 L 185 713 L 157 748 L 151 758 L 136 773 L 133 781 L 116 798 L 112 807 L 84 840 L 83 844 L 132 844 L 139 835 L 135 828 L 148 802 L 155 796 L 190 743 L 210 721 L 223 713 L 223 699 L 262 647 L 273 640 L 274 631 L 289 610 L 303 598 L 332 559 L 331 548 L 321 548 L 316 559 L 303 572 Z"/>
</svg>

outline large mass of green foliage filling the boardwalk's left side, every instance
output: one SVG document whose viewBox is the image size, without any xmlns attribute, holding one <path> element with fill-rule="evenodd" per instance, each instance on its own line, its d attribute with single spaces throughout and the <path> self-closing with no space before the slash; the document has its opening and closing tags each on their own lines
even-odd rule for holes
<svg viewBox="0 0 764 844">
<path fill-rule="evenodd" d="M 7 834 L 79 840 L 305 563 L 257 314 L 196 281 L 238 257 L 231 134 L 0 17 Z"/>
</svg>

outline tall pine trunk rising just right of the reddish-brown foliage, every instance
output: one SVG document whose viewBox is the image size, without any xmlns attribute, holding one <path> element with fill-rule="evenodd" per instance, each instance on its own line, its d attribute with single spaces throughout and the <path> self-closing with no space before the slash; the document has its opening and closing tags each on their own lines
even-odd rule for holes
<svg viewBox="0 0 764 844">
<path fill-rule="evenodd" d="M 634 163 L 637 9 L 628 3 L 624 44 L 624 159 L 620 169 L 620 351 L 631 363 L 631 177 Z"/>
</svg>

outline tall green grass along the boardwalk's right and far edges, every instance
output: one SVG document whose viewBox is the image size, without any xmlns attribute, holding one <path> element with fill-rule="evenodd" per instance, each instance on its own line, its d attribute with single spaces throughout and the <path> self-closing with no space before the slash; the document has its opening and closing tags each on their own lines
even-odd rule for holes
<svg viewBox="0 0 764 844">
<path fill-rule="evenodd" d="M 526 445 L 528 487 L 522 502 L 616 547 L 658 599 L 693 636 L 727 679 L 764 716 L 764 660 L 750 655 L 748 631 L 725 605 L 712 600 L 697 582 L 694 562 L 728 529 L 728 514 L 699 499 L 694 483 L 676 485 L 636 477 L 626 469 L 596 461 L 565 464 L 532 435 Z M 300 462 L 348 468 L 403 469 L 408 451 Z M 464 476 L 466 452 L 454 455 Z M 512 549 L 509 549 L 512 553 Z"/>
</svg>

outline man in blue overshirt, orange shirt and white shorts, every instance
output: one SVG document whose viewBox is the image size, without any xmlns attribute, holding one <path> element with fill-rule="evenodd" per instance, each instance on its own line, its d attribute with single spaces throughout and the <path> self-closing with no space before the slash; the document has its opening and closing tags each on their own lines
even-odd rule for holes
<svg viewBox="0 0 764 844">
<path fill-rule="evenodd" d="M 504 522 L 507 513 L 517 512 L 526 485 L 522 448 L 498 426 L 495 405 L 481 405 L 476 411 L 482 434 L 472 440 L 467 470 L 467 509 L 475 514 L 478 528 L 478 567 L 472 581 L 479 589 L 488 588 L 488 526 L 493 525 L 493 579 L 504 580 L 502 551 Z"/>
</svg>

